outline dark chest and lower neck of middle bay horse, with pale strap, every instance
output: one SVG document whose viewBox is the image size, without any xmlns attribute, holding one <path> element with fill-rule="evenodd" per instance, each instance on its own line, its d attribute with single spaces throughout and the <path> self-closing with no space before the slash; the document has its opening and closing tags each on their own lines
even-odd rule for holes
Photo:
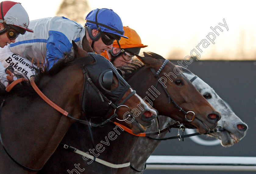
<svg viewBox="0 0 256 174">
<path fill-rule="evenodd" d="M 123 164 L 130 162 L 130 155 L 137 141 L 137 137 L 122 131 L 113 123 L 108 123 L 104 127 L 92 127 L 91 130 L 96 149 L 93 146 L 88 126 L 77 122 L 70 126 L 61 143 L 75 147 L 85 153 L 88 152 L 90 155 L 93 155 L 91 152 L 93 151 L 96 155 L 98 155 L 97 158 L 113 164 Z M 114 140 L 113 137 L 115 137 L 115 135 L 111 136 L 113 133 L 116 135 Z M 110 137 L 112 137 L 112 140 Z M 102 145 L 100 150 L 103 150 L 104 148 L 104 151 L 97 151 L 97 145 L 99 144 Z M 109 173 L 110 171 L 117 170 L 119 171 L 119 169 L 109 168 L 97 162 L 88 164 L 90 161 L 91 160 L 84 160 L 81 155 L 69 152 L 63 147 L 59 146 L 58 150 L 55 151 L 55 153 L 44 166 L 43 171 L 49 173 L 53 170 L 53 165 L 55 166 L 55 171 L 66 172 L 67 169 L 71 171 L 71 169 L 74 168 L 74 164 L 80 164 L 81 169 L 84 168 L 84 172 L 87 173 L 95 170 L 97 170 L 98 173 Z"/>
</svg>

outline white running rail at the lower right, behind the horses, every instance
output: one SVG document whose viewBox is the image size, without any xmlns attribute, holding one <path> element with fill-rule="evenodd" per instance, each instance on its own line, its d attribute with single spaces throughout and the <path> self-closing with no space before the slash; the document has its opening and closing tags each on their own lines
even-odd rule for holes
<svg viewBox="0 0 256 174">
<path fill-rule="evenodd" d="M 256 157 L 151 155 L 147 169 L 256 171 Z"/>
</svg>

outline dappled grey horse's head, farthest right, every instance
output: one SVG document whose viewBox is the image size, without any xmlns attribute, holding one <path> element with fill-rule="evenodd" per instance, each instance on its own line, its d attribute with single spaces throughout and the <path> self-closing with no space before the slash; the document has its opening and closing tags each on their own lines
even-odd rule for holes
<svg viewBox="0 0 256 174">
<path fill-rule="evenodd" d="M 212 105 L 213 108 L 221 113 L 221 119 L 218 121 L 217 131 L 209 135 L 219 138 L 222 146 L 230 146 L 239 142 L 246 134 L 248 129 L 245 124 L 231 109 L 225 101 L 190 70 L 180 67 L 184 75 L 192 82 L 196 89 Z"/>
</svg>

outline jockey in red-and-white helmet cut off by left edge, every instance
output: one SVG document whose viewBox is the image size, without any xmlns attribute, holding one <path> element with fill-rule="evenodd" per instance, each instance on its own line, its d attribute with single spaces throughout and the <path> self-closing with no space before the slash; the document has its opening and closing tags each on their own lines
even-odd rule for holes
<svg viewBox="0 0 256 174">
<path fill-rule="evenodd" d="M 18 2 L 3 1 L 0 3 L 0 47 L 4 48 L 7 44 L 14 43 L 19 34 L 26 31 L 33 33 L 28 28 L 29 17 L 26 10 Z M 1 79 L 5 78 L 5 67 L 0 63 Z"/>
</svg>

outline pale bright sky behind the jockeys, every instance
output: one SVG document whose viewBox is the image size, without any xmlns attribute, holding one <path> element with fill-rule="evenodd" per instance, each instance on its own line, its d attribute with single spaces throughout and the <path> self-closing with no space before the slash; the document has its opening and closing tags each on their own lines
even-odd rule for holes
<svg viewBox="0 0 256 174">
<path fill-rule="evenodd" d="M 55 16 L 62 0 L 20 0 L 30 20 Z M 141 51 L 152 51 L 165 58 L 183 59 L 219 26 L 215 44 L 203 48 L 201 59 L 255 59 L 256 23 L 254 1 L 163 1 L 163 0 L 88 0 L 91 9 L 113 9 L 124 26 L 137 31 Z M 84 16 L 85 17 L 85 16 Z M 220 26 L 225 19 L 227 30 Z M 84 25 L 84 23 L 82 23 Z M 218 30 L 219 31 L 219 30 Z M 210 36 L 211 37 L 211 36 Z M 202 46 L 202 45 L 201 45 Z M 200 46 L 199 46 L 200 48 Z M 197 49 L 196 49 L 197 50 Z M 197 50 L 198 51 L 198 50 Z"/>
</svg>

